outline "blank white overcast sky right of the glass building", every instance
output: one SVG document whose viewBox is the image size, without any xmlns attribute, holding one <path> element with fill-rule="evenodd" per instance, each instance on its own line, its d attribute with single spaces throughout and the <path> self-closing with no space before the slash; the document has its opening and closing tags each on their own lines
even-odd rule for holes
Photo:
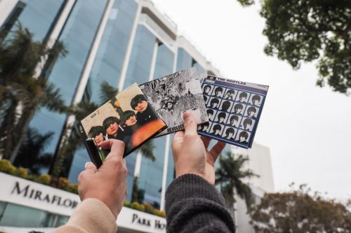
<svg viewBox="0 0 351 233">
<path fill-rule="evenodd" d="M 152 0 L 224 78 L 270 85 L 255 141 L 271 151 L 274 186 L 307 185 L 351 197 L 351 97 L 315 85 L 317 69 L 267 57 L 259 4 L 236 0 Z"/>
</svg>

